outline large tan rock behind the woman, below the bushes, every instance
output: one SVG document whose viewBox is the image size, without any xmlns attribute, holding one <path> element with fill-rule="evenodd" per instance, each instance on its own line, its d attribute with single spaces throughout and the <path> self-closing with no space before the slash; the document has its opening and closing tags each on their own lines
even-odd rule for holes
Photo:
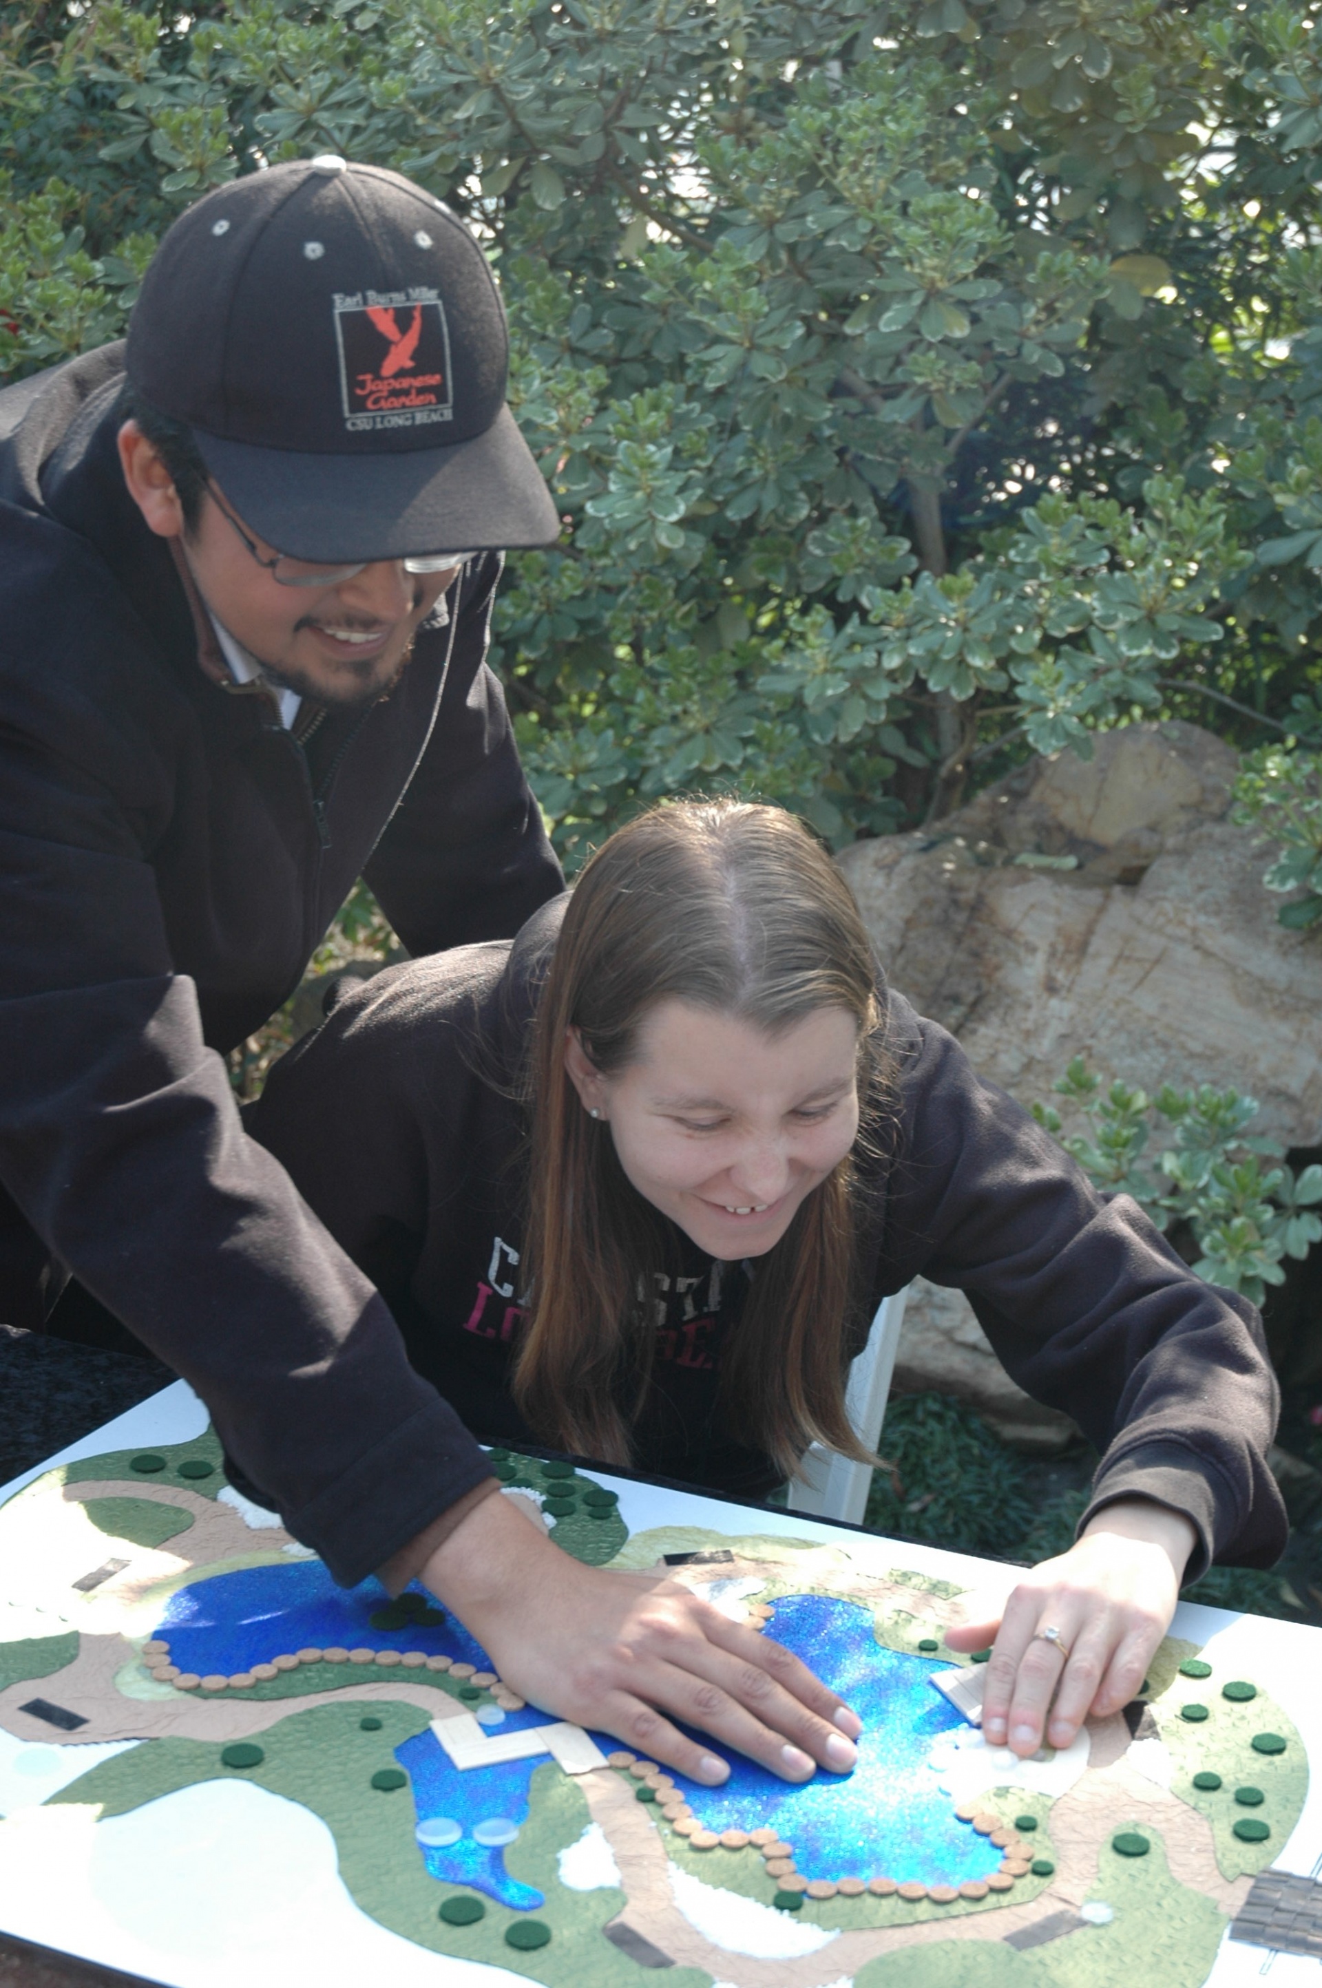
<svg viewBox="0 0 1322 1988">
<path fill-rule="evenodd" d="M 1024 1103 L 1081 1054 L 1147 1089 L 1250 1091 L 1254 1133 L 1316 1145 L 1322 942 L 1276 922 L 1270 855 L 1229 819 L 1235 769 L 1197 726 L 1129 726 L 1091 761 L 1032 761 L 934 831 L 855 843 L 841 869 L 895 986 Z M 958 1294 L 936 1296 L 914 1306 L 903 1384 L 968 1394 L 1008 1429 L 1000 1386 L 950 1384 L 978 1342 L 994 1356 Z"/>
</svg>

